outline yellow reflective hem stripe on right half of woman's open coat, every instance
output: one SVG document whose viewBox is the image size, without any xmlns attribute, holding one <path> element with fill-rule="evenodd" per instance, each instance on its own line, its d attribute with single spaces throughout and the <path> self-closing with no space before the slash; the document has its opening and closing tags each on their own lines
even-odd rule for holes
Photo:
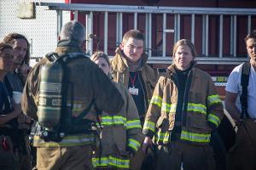
<svg viewBox="0 0 256 170">
<path fill-rule="evenodd" d="M 190 142 L 201 142 L 208 143 L 210 142 L 211 134 L 200 134 L 200 133 L 189 133 L 182 131 L 181 139 L 189 140 Z"/>
</svg>

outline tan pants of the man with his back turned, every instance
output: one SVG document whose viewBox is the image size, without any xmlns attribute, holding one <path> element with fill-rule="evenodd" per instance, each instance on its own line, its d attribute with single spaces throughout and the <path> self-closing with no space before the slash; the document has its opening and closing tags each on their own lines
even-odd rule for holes
<svg viewBox="0 0 256 170">
<path fill-rule="evenodd" d="M 38 170 L 90 170 L 92 147 L 91 145 L 71 147 L 38 147 Z"/>
</svg>

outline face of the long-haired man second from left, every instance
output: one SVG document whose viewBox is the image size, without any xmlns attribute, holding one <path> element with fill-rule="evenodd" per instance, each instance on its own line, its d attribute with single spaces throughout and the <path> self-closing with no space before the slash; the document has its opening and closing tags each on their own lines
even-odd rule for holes
<svg viewBox="0 0 256 170">
<path fill-rule="evenodd" d="M 24 39 L 15 39 L 14 44 L 14 64 L 21 65 L 27 52 L 27 43 Z"/>
</svg>

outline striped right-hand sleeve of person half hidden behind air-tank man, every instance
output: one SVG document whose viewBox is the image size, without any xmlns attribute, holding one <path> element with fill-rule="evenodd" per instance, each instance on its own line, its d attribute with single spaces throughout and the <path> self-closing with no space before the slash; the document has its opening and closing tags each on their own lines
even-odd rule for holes
<svg viewBox="0 0 256 170">
<path fill-rule="evenodd" d="M 126 127 L 127 127 L 127 149 L 137 152 L 143 143 L 144 135 L 142 125 L 138 116 L 137 107 L 131 94 L 126 90 L 127 105 L 126 105 Z"/>
</svg>

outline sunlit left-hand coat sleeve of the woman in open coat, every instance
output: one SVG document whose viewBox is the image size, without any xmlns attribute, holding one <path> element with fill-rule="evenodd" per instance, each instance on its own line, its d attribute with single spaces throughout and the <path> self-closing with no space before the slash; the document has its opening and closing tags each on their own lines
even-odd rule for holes
<svg viewBox="0 0 256 170">
<path fill-rule="evenodd" d="M 148 111 L 145 116 L 145 122 L 143 126 L 143 133 L 146 136 L 149 136 L 151 139 L 155 133 L 155 124 L 160 117 L 161 107 L 162 107 L 162 99 L 163 99 L 163 82 L 165 77 L 160 77 L 154 88 L 154 94 L 152 99 L 150 100 L 150 104 L 148 106 Z"/>
</svg>

